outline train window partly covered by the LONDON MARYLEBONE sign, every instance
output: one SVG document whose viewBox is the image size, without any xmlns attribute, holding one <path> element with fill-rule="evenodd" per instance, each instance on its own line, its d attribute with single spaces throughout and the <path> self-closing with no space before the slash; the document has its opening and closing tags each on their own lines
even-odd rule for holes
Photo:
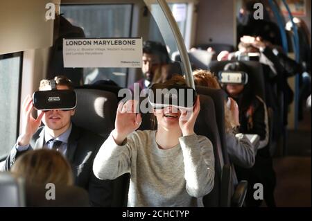
<svg viewBox="0 0 312 221">
<path fill-rule="evenodd" d="M 62 5 L 61 14 L 73 26 L 83 28 L 85 37 L 131 35 L 132 4 Z M 83 83 L 110 79 L 120 86 L 126 86 L 127 72 L 124 68 L 85 68 Z"/>
</svg>

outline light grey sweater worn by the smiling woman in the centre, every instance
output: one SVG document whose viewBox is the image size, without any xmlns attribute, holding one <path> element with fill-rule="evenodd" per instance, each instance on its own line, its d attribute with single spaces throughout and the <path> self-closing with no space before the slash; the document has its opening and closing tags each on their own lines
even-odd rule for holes
<svg viewBox="0 0 312 221">
<path fill-rule="evenodd" d="M 162 150 L 155 134 L 133 132 L 123 145 L 110 134 L 94 159 L 94 174 L 98 179 L 115 179 L 130 173 L 128 206 L 202 206 L 202 197 L 214 186 L 211 142 L 193 134 Z"/>
</svg>

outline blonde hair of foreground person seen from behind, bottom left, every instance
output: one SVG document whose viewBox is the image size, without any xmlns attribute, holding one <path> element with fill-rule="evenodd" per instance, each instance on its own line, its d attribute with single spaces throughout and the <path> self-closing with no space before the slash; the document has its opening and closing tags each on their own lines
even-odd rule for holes
<svg viewBox="0 0 312 221">
<path fill-rule="evenodd" d="M 23 154 L 11 168 L 15 176 L 28 184 L 73 185 L 73 173 L 68 161 L 56 150 L 31 150 Z"/>
</svg>

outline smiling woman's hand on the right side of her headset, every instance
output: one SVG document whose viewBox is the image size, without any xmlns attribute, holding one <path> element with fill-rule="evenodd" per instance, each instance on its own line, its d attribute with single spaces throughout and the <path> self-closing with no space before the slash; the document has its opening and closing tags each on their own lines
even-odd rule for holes
<svg viewBox="0 0 312 221">
<path fill-rule="evenodd" d="M 195 106 L 193 107 L 193 112 L 190 113 L 187 111 L 181 111 L 179 125 L 182 130 L 183 136 L 195 134 L 194 125 L 199 112 L 200 112 L 200 99 L 199 96 L 197 96 Z"/>
</svg>

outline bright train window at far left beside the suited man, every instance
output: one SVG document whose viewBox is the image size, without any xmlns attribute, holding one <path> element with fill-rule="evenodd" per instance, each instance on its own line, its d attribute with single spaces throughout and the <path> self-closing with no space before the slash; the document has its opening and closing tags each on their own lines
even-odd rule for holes
<svg viewBox="0 0 312 221">
<path fill-rule="evenodd" d="M 0 55 L 0 159 L 17 139 L 22 53 Z"/>
</svg>

